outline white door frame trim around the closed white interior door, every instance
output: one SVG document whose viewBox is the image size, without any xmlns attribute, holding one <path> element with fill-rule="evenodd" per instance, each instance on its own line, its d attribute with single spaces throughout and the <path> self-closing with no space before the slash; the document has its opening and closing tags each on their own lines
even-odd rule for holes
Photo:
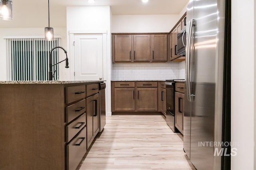
<svg viewBox="0 0 256 170">
<path fill-rule="evenodd" d="M 103 63 L 103 78 L 102 81 L 107 79 L 107 30 L 70 30 L 69 32 L 69 49 L 70 49 L 70 78 L 75 80 L 75 48 L 74 37 L 75 35 L 102 35 L 102 63 Z"/>
</svg>

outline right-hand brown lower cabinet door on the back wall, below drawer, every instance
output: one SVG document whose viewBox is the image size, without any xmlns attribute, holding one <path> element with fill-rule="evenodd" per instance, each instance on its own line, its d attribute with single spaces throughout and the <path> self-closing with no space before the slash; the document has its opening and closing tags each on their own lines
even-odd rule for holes
<svg viewBox="0 0 256 170">
<path fill-rule="evenodd" d="M 157 111 L 157 88 L 137 88 L 137 111 Z"/>
</svg>

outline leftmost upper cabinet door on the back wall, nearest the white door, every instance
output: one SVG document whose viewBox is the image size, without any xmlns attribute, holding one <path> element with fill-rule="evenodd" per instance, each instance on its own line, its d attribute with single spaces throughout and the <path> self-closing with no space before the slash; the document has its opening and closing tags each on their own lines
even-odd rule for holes
<svg viewBox="0 0 256 170">
<path fill-rule="evenodd" d="M 114 35 L 114 61 L 132 61 L 132 35 Z"/>
</svg>

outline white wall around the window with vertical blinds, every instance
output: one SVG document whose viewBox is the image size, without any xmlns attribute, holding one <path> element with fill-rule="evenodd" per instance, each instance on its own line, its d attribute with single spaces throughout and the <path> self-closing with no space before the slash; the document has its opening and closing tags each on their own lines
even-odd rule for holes
<svg viewBox="0 0 256 170">
<path fill-rule="evenodd" d="M 54 35 L 60 35 L 60 45 L 66 48 L 66 28 L 54 27 Z M 7 57 L 6 57 L 6 36 L 22 36 L 22 37 L 44 37 L 44 27 L 42 28 L 0 28 L 0 81 L 7 79 Z M 60 59 L 64 59 L 65 53 L 60 52 Z M 63 69 L 64 63 L 60 65 L 60 79 L 64 77 Z M 65 68 L 66 69 L 66 68 Z"/>
</svg>

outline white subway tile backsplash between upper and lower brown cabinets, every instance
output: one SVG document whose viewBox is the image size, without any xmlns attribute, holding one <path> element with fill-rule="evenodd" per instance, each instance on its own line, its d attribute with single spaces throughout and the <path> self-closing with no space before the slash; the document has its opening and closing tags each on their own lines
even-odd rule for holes
<svg viewBox="0 0 256 170">
<path fill-rule="evenodd" d="M 182 63 L 113 63 L 112 80 L 184 79 L 185 64 Z"/>
</svg>

